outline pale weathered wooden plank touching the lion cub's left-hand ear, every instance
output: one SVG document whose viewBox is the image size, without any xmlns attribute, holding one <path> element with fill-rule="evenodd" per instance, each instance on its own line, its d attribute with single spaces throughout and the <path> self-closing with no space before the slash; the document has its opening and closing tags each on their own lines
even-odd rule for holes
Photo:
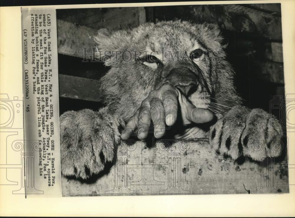
<svg viewBox="0 0 295 218">
<path fill-rule="evenodd" d="M 89 48 L 87 53 L 92 53 L 91 47 L 95 47 L 93 37 L 97 30 L 85 26 L 75 25 L 63 20 L 57 20 L 57 44 L 58 53 L 84 58 L 84 48 Z M 94 52 L 95 50 L 93 50 Z M 87 58 L 92 59 L 88 55 Z M 94 60 L 94 56 L 93 56 Z"/>
</svg>

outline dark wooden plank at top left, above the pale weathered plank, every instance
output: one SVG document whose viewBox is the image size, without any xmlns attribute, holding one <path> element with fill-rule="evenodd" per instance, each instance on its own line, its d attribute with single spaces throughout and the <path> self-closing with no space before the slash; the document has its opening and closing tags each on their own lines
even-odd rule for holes
<svg viewBox="0 0 295 218">
<path fill-rule="evenodd" d="M 85 8 L 58 10 L 57 18 L 100 29 L 129 28 L 145 22 L 144 7 Z"/>
</svg>

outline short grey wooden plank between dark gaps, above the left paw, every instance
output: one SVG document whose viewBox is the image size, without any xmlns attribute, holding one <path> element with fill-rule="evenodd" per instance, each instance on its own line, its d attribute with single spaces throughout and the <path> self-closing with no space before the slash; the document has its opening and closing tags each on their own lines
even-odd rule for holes
<svg viewBox="0 0 295 218">
<path fill-rule="evenodd" d="M 87 101 L 101 101 L 99 81 L 58 74 L 59 96 Z"/>
</svg>

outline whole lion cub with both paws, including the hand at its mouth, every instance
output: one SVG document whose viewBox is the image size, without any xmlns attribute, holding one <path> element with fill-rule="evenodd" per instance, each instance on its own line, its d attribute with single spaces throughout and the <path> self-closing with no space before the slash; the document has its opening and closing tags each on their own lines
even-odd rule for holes
<svg viewBox="0 0 295 218">
<path fill-rule="evenodd" d="M 112 162 L 120 140 L 132 135 L 207 137 L 221 154 L 254 160 L 261 140 L 263 151 L 281 154 L 272 149 L 281 139 L 279 121 L 241 105 L 215 25 L 146 23 L 132 30 L 101 29 L 94 39 L 97 57 L 111 66 L 100 81 L 106 106 L 60 116 L 64 175 L 87 179 L 99 173 Z"/>
</svg>

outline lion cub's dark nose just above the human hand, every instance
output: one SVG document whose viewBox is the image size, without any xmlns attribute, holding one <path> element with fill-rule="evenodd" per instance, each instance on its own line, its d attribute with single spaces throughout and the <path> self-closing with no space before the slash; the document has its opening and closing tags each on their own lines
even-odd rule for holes
<svg viewBox="0 0 295 218">
<path fill-rule="evenodd" d="M 198 76 L 188 68 L 173 68 L 165 79 L 186 97 L 194 93 L 199 84 Z"/>
</svg>

